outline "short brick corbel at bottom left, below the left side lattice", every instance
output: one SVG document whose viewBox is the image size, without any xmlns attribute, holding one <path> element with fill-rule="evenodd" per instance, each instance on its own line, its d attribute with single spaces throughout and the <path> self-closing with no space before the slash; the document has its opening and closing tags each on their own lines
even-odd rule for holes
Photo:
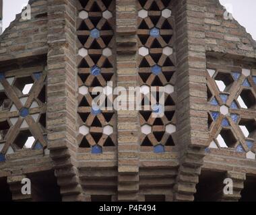
<svg viewBox="0 0 256 215">
<path fill-rule="evenodd" d="M 7 177 L 7 183 L 12 194 L 12 200 L 15 202 L 30 202 L 32 201 L 32 195 L 22 194 L 22 179 L 26 178 L 26 175 L 12 175 Z"/>
</svg>

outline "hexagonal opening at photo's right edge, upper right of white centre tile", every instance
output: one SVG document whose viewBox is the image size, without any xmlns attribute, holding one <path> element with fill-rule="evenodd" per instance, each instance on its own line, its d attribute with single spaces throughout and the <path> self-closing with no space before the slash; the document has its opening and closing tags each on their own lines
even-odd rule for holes
<svg viewBox="0 0 256 215">
<path fill-rule="evenodd" d="M 253 94 L 251 89 L 243 89 L 240 96 L 238 96 L 237 101 L 238 101 L 240 107 L 245 108 L 245 109 L 256 107 L 255 95 Z"/>
</svg>

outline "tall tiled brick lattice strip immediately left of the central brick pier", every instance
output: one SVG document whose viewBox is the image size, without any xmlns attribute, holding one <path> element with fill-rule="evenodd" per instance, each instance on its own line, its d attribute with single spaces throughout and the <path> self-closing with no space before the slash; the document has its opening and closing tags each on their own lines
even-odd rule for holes
<svg viewBox="0 0 256 215">
<path fill-rule="evenodd" d="M 115 1 L 79 0 L 77 9 L 78 142 L 92 153 L 102 153 L 103 146 L 115 146 L 115 113 L 100 110 L 109 100 L 92 105 L 97 96 L 92 95 L 92 89 L 103 87 L 110 96 L 113 89 L 107 82 L 112 81 L 115 87 Z"/>
</svg>

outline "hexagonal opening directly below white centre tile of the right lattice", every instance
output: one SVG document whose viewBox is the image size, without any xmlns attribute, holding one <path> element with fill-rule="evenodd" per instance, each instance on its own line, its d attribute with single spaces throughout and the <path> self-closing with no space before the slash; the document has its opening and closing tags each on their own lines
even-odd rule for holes
<svg viewBox="0 0 256 215">
<path fill-rule="evenodd" d="M 233 148 L 236 145 L 236 138 L 230 129 L 222 129 L 217 137 L 221 148 Z"/>
</svg>

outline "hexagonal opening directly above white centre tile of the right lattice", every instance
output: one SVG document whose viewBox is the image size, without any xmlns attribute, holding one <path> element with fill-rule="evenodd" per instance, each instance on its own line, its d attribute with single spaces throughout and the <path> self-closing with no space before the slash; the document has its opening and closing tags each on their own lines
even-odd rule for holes
<svg viewBox="0 0 256 215">
<path fill-rule="evenodd" d="M 221 92 L 228 91 L 232 84 L 234 83 L 234 79 L 229 73 L 221 73 L 218 72 L 216 77 L 214 78 L 218 89 Z"/>
</svg>

